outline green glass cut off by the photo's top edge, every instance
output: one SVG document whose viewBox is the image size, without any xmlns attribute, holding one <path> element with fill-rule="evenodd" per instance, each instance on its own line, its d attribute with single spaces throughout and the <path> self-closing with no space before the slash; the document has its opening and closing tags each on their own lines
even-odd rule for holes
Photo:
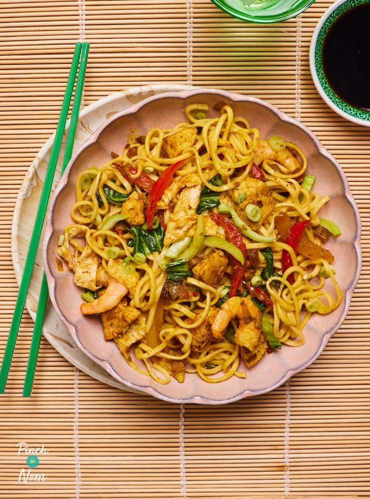
<svg viewBox="0 0 370 499">
<path fill-rule="evenodd" d="M 211 0 L 227 14 L 243 21 L 281 22 L 299 15 L 315 0 Z"/>
</svg>

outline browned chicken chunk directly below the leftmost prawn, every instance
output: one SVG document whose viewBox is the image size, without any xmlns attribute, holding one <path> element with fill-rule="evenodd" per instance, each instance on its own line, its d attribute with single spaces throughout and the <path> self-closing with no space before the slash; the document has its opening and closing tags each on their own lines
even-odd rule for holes
<svg viewBox="0 0 370 499">
<path fill-rule="evenodd" d="M 104 339 L 110 340 L 124 333 L 131 322 L 141 315 L 141 312 L 128 306 L 127 300 L 123 298 L 118 305 L 106 312 L 102 312 L 100 315 L 103 323 Z"/>
</svg>

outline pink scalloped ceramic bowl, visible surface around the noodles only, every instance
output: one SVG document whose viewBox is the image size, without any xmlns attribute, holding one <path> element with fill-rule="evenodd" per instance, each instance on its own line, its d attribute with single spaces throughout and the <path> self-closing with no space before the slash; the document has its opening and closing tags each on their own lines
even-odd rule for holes
<svg viewBox="0 0 370 499">
<path fill-rule="evenodd" d="M 111 158 L 111 151 L 121 150 L 132 134 L 145 134 L 153 126 L 171 128 L 184 120 L 186 105 L 203 102 L 212 107 L 220 101 L 229 103 L 237 116 L 246 117 L 258 127 L 261 137 L 281 135 L 298 144 L 308 159 L 308 172 L 317 176 L 315 191 L 329 194 L 331 200 L 321 210 L 322 217 L 337 220 L 341 213 L 342 235 L 332 238 L 327 247 L 335 254 L 337 279 L 343 301 L 325 316 L 312 316 L 305 327 L 306 343 L 300 348 L 283 345 L 265 355 L 247 370 L 247 377 L 232 377 L 222 383 L 207 383 L 196 375 L 187 375 L 179 384 L 171 379 L 160 385 L 131 369 L 116 344 L 104 341 L 98 316 L 84 316 L 79 305 L 81 289 L 73 283 L 73 274 L 64 265 L 58 271 L 57 240 L 63 229 L 74 223 L 70 207 L 75 198 L 75 181 L 88 166 L 101 166 Z M 213 111 L 210 111 L 212 116 Z M 217 115 L 216 112 L 215 116 Z M 144 99 L 108 119 L 73 155 L 51 199 L 47 215 L 43 261 L 52 304 L 78 347 L 96 364 L 128 388 L 177 403 L 224 404 L 244 397 L 268 392 L 287 381 L 293 374 L 310 365 L 321 353 L 331 336 L 346 317 L 361 268 L 360 215 L 340 165 L 315 135 L 301 123 L 264 101 L 222 90 L 193 89 L 164 93 Z M 328 284 L 329 291 L 330 285 Z M 314 314 L 315 315 L 315 314 Z M 241 366 L 243 368 L 243 365 Z"/>
</svg>

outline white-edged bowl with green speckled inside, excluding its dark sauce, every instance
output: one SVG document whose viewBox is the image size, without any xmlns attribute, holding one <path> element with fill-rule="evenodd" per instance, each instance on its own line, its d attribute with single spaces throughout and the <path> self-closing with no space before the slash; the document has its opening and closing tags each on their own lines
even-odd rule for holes
<svg viewBox="0 0 370 499">
<path fill-rule="evenodd" d="M 324 42 L 331 27 L 349 10 L 364 4 L 370 4 L 370 0 L 337 0 L 323 14 L 311 39 L 310 69 L 315 86 L 329 107 L 349 121 L 358 125 L 370 126 L 370 112 L 351 105 L 338 95 L 327 78 L 323 63 Z"/>
</svg>

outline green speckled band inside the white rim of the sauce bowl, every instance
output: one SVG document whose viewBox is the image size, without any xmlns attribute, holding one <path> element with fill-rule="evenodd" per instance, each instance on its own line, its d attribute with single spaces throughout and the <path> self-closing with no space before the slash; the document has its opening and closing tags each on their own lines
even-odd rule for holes
<svg viewBox="0 0 370 499">
<path fill-rule="evenodd" d="M 364 121 L 370 121 L 370 113 L 369 111 L 363 111 L 362 109 L 359 109 L 358 107 L 352 106 L 348 102 L 344 101 L 334 90 L 332 85 L 329 83 L 328 79 L 326 78 L 325 71 L 324 71 L 324 64 L 323 64 L 323 47 L 324 47 L 324 39 L 326 34 L 328 33 L 329 29 L 333 26 L 333 24 L 336 22 L 336 20 L 346 13 L 348 10 L 352 9 L 353 7 L 356 7 L 358 5 L 365 5 L 369 4 L 370 0 L 347 0 L 338 5 L 333 12 L 331 12 L 328 17 L 325 19 L 323 22 L 323 25 L 321 26 L 318 35 L 317 35 L 317 40 L 315 44 L 315 71 L 317 78 L 319 80 L 319 83 L 325 93 L 325 95 L 330 99 L 331 102 L 335 106 L 337 106 L 338 109 L 340 109 L 343 113 L 347 114 L 348 116 L 352 116 L 353 118 L 356 119 L 362 119 Z"/>
</svg>

